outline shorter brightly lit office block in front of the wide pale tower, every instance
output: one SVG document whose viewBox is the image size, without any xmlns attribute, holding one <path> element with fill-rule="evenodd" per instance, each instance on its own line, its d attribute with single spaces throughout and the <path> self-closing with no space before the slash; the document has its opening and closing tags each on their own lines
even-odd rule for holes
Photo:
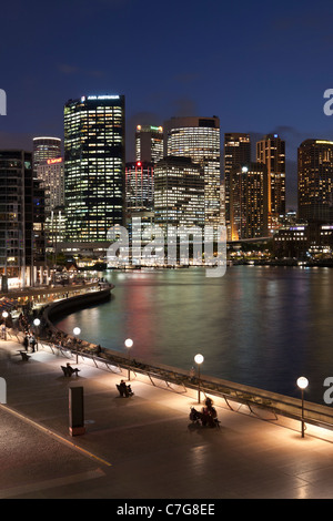
<svg viewBox="0 0 333 521">
<path fill-rule="evenodd" d="M 168 226 L 204 225 L 204 178 L 202 167 L 189 157 L 168 156 L 154 170 L 155 224 Z"/>
</svg>

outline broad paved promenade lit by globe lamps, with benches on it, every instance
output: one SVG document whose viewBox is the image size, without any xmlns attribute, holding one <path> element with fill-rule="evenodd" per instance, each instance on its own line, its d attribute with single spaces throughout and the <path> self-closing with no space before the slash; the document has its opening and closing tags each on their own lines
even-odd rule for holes
<svg viewBox="0 0 333 521">
<path fill-rule="evenodd" d="M 333 498 L 333 436 L 296 421 L 262 419 L 216 399 L 220 429 L 193 427 L 194 391 L 153 387 L 132 376 L 79 362 L 64 378 L 48 349 L 28 362 L 0 341 L 0 498 L 246 499 Z M 127 377 L 127 372 L 122 375 Z M 69 387 L 83 386 L 85 433 L 69 433 Z M 264 412 L 261 412 L 264 415 Z"/>
</svg>

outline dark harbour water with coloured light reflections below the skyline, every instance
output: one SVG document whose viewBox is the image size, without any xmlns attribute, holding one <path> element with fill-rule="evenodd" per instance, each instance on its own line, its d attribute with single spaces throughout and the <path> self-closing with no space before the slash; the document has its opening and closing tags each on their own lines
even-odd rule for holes
<svg viewBox="0 0 333 521">
<path fill-rule="evenodd" d="M 61 319 L 58 326 L 133 358 L 324 403 L 333 377 L 333 269 L 231 266 L 223 277 L 203 268 L 102 274 L 114 284 L 105 304 Z"/>
</svg>

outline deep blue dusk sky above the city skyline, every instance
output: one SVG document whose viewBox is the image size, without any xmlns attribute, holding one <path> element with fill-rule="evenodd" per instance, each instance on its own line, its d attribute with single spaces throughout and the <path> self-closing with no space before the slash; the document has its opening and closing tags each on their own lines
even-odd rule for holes
<svg viewBox="0 0 333 521">
<path fill-rule="evenodd" d="M 127 160 L 138 123 L 218 115 L 224 132 L 286 141 L 287 205 L 296 149 L 333 140 L 323 94 L 333 89 L 327 1 L 69 0 L 1 2 L 0 147 L 63 137 L 63 105 L 124 94 Z"/>
</svg>

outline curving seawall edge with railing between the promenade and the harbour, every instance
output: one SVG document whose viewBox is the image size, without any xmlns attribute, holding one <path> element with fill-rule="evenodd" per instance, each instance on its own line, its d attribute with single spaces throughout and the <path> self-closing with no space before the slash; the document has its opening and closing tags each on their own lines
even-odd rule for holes
<svg viewBox="0 0 333 521">
<path fill-rule="evenodd" d="M 111 289 L 111 287 L 108 287 L 100 288 L 98 292 L 90 290 L 90 293 L 87 292 L 85 294 L 48 305 L 43 310 L 47 329 L 57 339 L 57 336 L 63 334 L 52 321 L 57 316 L 65 315 L 69 309 L 72 311 L 75 307 L 82 308 L 92 303 L 105 300 L 110 298 Z M 84 340 L 79 340 L 78 343 L 71 335 L 65 335 L 65 338 L 68 343 L 65 346 L 57 343 L 57 340 L 48 341 L 46 338 L 42 339 L 42 345 L 53 353 L 57 349 L 58 354 L 67 358 L 74 356 L 78 360 L 78 357 L 81 357 L 82 360 L 89 360 L 107 370 L 121 374 L 123 369 L 130 369 L 134 375 L 142 374 L 149 378 L 153 386 L 164 381 L 167 388 L 178 392 L 186 392 L 188 389 L 198 388 L 198 378 L 191 377 L 186 370 L 165 365 L 152 365 L 145 360 L 129 359 L 122 356 L 121 353 L 109 348 L 99 348 L 99 346 Z M 261 417 L 261 412 L 265 410 L 270 411 L 272 419 L 278 419 L 278 415 L 297 420 L 301 419 L 302 406 L 301 399 L 205 375 L 200 377 L 200 388 L 204 395 L 210 394 L 222 398 L 226 406 L 234 411 L 242 405 L 245 405 L 250 412 L 258 417 Z M 327 406 L 306 401 L 304 406 L 304 421 L 333 430 L 333 411 Z"/>
</svg>

